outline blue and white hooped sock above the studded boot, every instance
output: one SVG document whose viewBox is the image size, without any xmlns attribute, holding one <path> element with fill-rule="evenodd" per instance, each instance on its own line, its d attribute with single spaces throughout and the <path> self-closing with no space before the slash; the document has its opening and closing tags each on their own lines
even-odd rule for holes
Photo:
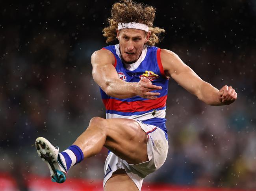
<svg viewBox="0 0 256 191">
<path fill-rule="evenodd" d="M 59 160 L 59 158 L 61 160 Z M 67 148 L 65 151 L 59 153 L 58 162 L 62 167 L 64 167 L 65 171 L 68 172 L 70 167 L 78 164 L 83 160 L 83 152 L 80 147 L 76 145 L 72 145 Z M 62 163 L 62 164 L 61 164 Z"/>
</svg>

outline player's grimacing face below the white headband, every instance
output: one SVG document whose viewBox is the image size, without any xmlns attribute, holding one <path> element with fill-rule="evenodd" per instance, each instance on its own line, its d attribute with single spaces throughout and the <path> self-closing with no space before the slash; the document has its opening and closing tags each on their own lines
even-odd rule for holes
<svg viewBox="0 0 256 191">
<path fill-rule="evenodd" d="M 139 29 L 121 29 L 117 31 L 119 48 L 125 63 L 132 64 L 139 59 L 149 36 L 150 32 L 146 35 L 145 31 Z"/>
</svg>

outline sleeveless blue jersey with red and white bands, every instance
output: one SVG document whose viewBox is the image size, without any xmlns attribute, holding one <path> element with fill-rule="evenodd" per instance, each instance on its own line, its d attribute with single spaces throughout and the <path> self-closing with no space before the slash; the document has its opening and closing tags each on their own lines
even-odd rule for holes
<svg viewBox="0 0 256 191">
<path fill-rule="evenodd" d="M 161 86 L 160 95 L 156 100 L 134 96 L 132 98 L 119 99 L 108 96 L 101 88 L 100 93 L 106 107 L 106 118 L 131 118 L 145 124 L 159 127 L 165 132 L 165 103 L 167 100 L 168 78 L 165 77 L 160 59 L 161 49 L 154 46 L 144 46 L 139 59 L 133 64 L 125 64 L 121 60 L 119 44 L 104 47 L 115 56 L 115 69 L 120 79 L 126 82 L 139 82 L 142 78 L 148 78 L 152 84 Z"/>
</svg>

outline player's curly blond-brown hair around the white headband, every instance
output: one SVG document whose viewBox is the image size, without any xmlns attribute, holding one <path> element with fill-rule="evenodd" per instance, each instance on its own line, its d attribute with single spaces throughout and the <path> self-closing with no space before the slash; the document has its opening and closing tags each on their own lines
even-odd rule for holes
<svg viewBox="0 0 256 191">
<path fill-rule="evenodd" d="M 112 42 L 117 37 L 117 24 L 137 22 L 148 25 L 151 35 L 146 45 L 154 46 L 159 42 L 158 35 L 165 30 L 153 27 L 156 9 L 152 6 L 135 3 L 132 0 L 121 0 L 112 5 L 111 17 L 108 18 L 109 26 L 103 29 L 103 36 L 107 37 L 106 42 Z M 145 32 L 146 33 L 146 32 Z"/>
</svg>

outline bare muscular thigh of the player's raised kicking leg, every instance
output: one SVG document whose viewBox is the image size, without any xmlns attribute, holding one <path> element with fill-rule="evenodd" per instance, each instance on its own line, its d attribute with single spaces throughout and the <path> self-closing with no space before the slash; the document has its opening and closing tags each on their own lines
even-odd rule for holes
<svg viewBox="0 0 256 191">
<path fill-rule="evenodd" d="M 148 160 L 148 138 L 135 120 L 107 119 L 107 126 L 105 147 L 130 164 L 138 164 Z"/>
</svg>

